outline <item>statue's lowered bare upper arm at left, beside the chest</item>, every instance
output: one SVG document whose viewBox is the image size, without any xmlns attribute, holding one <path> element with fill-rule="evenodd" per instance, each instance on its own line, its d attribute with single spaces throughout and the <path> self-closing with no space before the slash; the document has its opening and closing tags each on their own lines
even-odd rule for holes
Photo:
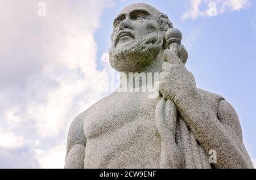
<svg viewBox="0 0 256 180">
<path fill-rule="evenodd" d="M 84 168 L 86 138 L 83 131 L 84 113 L 78 115 L 69 127 L 64 168 Z"/>
</svg>

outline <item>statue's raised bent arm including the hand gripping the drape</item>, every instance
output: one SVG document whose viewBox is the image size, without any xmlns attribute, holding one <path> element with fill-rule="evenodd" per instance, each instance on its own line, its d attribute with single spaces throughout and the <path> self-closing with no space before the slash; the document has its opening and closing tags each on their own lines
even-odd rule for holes
<svg viewBox="0 0 256 180">
<path fill-rule="evenodd" d="M 222 101 L 218 105 L 217 117 L 196 88 L 195 77 L 185 68 L 173 48 L 164 50 L 164 59 L 163 71 L 159 74 L 159 91 L 175 103 L 204 151 L 208 153 L 214 149 L 217 152 L 214 166 L 253 168 L 243 146 L 241 127 L 232 106 Z"/>
</svg>

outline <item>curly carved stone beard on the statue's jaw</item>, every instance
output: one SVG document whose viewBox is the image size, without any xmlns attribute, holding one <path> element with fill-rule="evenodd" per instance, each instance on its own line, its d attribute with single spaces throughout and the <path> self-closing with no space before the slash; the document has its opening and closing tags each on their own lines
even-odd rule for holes
<svg viewBox="0 0 256 180">
<path fill-rule="evenodd" d="M 138 36 L 137 36 L 138 37 Z M 119 72 L 141 72 L 163 48 L 163 33 L 149 33 L 135 42 L 109 49 L 110 65 Z"/>
</svg>

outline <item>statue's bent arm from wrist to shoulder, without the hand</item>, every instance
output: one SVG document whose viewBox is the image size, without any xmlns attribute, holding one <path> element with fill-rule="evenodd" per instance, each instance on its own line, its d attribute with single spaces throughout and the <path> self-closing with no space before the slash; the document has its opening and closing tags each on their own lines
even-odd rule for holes
<svg viewBox="0 0 256 180">
<path fill-rule="evenodd" d="M 199 93 L 175 103 L 205 152 L 217 152 L 216 168 L 253 168 L 242 143 L 242 132 L 235 110 L 226 101 L 218 105 L 218 117 L 207 108 Z"/>
</svg>

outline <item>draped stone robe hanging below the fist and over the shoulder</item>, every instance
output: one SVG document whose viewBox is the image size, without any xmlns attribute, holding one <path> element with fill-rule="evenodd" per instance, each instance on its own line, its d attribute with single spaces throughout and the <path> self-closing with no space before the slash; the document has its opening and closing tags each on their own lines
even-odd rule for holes
<svg viewBox="0 0 256 180">
<path fill-rule="evenodd" d="M 198 91 L 205 105 L 218 117 L 218 102 L 224 98 L 202 89 Z M 156 126 L 162 141 L 160 168 L 212 168 L 208 152 L 201 148 L 174 102 L 164 97 L 156 107 Z"/>
</svg>

